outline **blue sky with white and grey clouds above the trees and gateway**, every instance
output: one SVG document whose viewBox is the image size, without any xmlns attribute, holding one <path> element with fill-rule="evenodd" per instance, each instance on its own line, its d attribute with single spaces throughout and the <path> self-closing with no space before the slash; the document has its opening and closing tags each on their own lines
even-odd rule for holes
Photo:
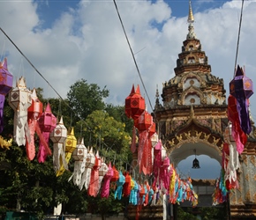
<svg viewBox="0 0 256 220">
<path fill-rule="evenodd" d="M 195 33 L 212 74 L 224 79 L 227 96 L 234 75 L 242 2 L 193 0 Z M 117 0 L 139 71 L 154 107 L 156 86 L 174 77 L 177 55 L 188 33 L 188 0 Z M 256 2 L 245 1 L 237 64 L 256 81 Z M 146 96 L 112 0 L 0 0 L 0 27 L 49 84 L 65 98 L 70 85 L 84 78 L 109 89 L 107 101 L 123 105 L 132 84 Z M 56 93 L 0 32 L 0 57 L 7 56 L 15 80 Z M 256 119 L 255 94 L 251 98 Z M 148 111 L 151 111 L 146 97 Z M 253 111 L 254 109 L 254 111 Z"/>
</svg>

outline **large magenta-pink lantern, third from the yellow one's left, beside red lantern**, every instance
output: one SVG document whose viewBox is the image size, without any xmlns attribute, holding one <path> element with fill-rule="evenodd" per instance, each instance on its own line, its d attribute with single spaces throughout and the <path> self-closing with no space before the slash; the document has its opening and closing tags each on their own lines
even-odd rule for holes
<svg viewBox="0 0 256 220">
<path fill-rule="evenodd" d="M 51 108 L 49 103 L 47 104 L 44 113 L 41 114 L 38 119 L 38 124 L 41 129 L 41 136 L 43 136 L 43 140 L 39 142 L 39 151 L 37 155 L 37 159 L 39 163 L 44 163 L 47 156 L 49 156 L 49 152 L 45 149 L 45 143 L 49 144 L 49 134 L 56 128 L 56 116 L 51 113 Z"/>
</svg>

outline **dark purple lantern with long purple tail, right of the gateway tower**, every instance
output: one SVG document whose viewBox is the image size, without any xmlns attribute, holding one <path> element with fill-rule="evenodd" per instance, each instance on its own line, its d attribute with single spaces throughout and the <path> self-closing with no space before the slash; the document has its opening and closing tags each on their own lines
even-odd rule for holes
<svg viewBox="0 0 256 220">
<path fill-rule="evenodd" d="M 237 112 L 242 130 L 249 135 L 252 131 L 249 116 L 249 98 L 253 94 L 252 79 L 245 77 L 242 68 L 237 65 L 236 76 L 230 82 L 230 94 L 237 99 Z"/>
</svg>

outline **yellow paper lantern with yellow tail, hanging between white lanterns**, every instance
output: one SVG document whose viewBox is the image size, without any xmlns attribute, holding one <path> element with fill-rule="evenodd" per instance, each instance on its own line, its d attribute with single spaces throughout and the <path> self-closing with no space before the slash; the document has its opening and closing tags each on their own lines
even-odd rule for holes
<svg viewBox="0 0 256 220">
<path fill-rule="evenodd" d="M 65 160 L 66 164 L 69 164 L 70 159 L 72 158 L 72 152 L 77 147 L 77 138 L 74 136 L 74 128 L 69 132 L 66 141 L 65 141 Z M 60 176 L 64 173 L 64 165 L 61 165 L 59 171 L 56 173 L 56 176 Z"/>
</svg>

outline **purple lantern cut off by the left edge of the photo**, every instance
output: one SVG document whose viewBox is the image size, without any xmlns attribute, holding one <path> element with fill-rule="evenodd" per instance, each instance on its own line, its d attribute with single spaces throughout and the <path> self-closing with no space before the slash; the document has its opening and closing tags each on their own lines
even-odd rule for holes
<svg viewBox="0 0 256 220">
<path fill-rule="evenodd" d="M 12 75 L 7 69 L 7 59 L 0 62 L 0 133 L 4 129 L 4 100 L 12 88 Z"/>
</svg>

